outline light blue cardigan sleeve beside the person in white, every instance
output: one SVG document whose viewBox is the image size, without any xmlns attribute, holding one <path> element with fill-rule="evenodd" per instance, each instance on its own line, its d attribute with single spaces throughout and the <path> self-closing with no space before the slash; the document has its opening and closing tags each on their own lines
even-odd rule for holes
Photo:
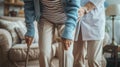
<svg viewBox="0 0 120 67">
<path fill-rule="evenodd" d="M 80 7 L 80 0 L 67 0 L 65 11 L 67 15 L 67 20 L 65 22 L 65 29 L 62 34 L 62 38 L 74 39 L 74 31 L 78 19 L 78 9 Z"/>
</svg>

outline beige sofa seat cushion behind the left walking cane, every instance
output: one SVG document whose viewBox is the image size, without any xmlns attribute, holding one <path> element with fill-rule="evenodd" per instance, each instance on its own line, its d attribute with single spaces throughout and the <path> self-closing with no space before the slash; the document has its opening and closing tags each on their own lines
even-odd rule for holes
<svg viewBox="0 0 120 67">
<path fill-rule="evenodd" d="M 25 61 L 27 52 L 26 44 L 16 44 L 9 50 L 9 60 L 11 61 Z M 38 44 L 34 43 L 30 46 L 29 60 L 36 60 L 39 57 Z"/>
</svg>

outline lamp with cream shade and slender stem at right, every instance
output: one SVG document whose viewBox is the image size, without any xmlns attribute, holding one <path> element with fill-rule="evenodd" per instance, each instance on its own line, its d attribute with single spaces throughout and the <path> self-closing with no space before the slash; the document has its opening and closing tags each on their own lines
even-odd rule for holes
<svg viewBox="0 0 120 67">
<path fill-rule="evenodd" d="M 112 45 L 117 45 L 114 39 L 114 20 L 120 15 L 120 4 L 109 5 L 106 9 L 106 15 L 112 17 Z"/>
</svg>

